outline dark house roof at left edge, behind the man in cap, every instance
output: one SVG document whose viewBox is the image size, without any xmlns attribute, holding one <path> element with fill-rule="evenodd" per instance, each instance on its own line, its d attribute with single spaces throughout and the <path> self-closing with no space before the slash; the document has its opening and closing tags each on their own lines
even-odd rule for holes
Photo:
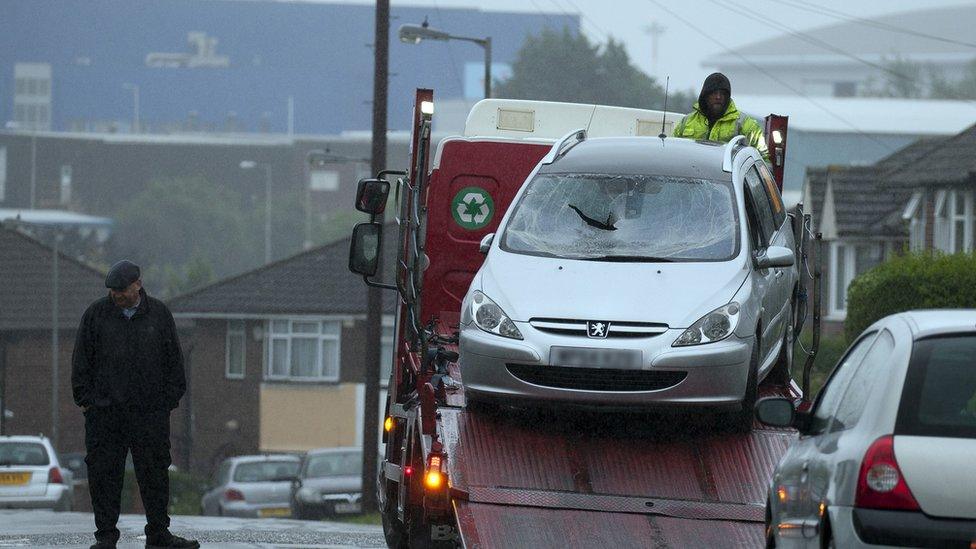
<svg viewBox="0 0 976 549">
<path fill-rule="evenodd" d="M 0 330 L 50 329 L 53 250 L 0 228 L 0 257 Z M 105 295 L 105 274 L 64 253 L 58 260 L 58 324 L 76 328 L 88 305 Z"/>
</svg>

